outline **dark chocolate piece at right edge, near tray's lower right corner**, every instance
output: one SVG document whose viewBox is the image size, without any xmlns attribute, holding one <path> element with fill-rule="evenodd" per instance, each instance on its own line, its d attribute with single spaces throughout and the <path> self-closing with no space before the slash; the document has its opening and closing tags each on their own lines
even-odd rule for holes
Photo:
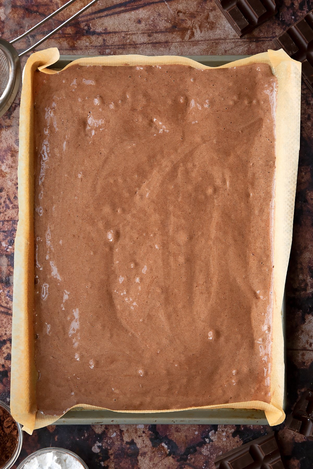
<svg viewBox="0 0 313 469">
<path fill-rule="evenodd" d="M 308 389 L 296 403 L 286 426 L 313 440 L 313 390 Z"/>
</svg>

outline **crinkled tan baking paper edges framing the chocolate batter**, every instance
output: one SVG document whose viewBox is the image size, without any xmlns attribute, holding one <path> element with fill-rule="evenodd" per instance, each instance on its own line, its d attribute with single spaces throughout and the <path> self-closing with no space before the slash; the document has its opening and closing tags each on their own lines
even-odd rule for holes
<svg viewBox="0 0 313 469">
<path fill-rule="evenodd" d="M 56 48 L 36 52 L 28 59 L 23 75 L 20 109 L 18 156 L 19 221 L 15 238 L 11 412 L 14 418 L 31 433 L 35 428 L 52 424 L 61 416 L 44 416 L 36 407 L 37 371 L 34 364 L 33 296 L 34 296 L 34 230 L 33 230 L 33 75 L 37 68 L 44 73 L 57 73 L 48 69 L 59 59 Z M 270 404 L 261 401 L 237 402 L 202 407 L 246 408 L 265 411 L 270 425 L 284 420 L 282 409 L 284 394 L 284 359 L 282 336 L 282 298 L 290 255 L 292 223 L 300 136 L 301 64 L 290 59 L 282 50 L 260 53 L 220 68 L 239 67 L 249 63 L 268 63 L 278 80 L 276 106 L 276 180 L 274 212 L 274 289 L 273 289 L 273 368 L 271 371 Z M 176 56 L 147 57 L 120 55 L 77 59 L 73 65 L 165 65 L 181 64 L 194 68 L 210 68 L 191 59 Z M 61 72 L 59 72 L 61 73 Z M 74 407 L 99 409 L 80 404 Z M 188 408 L 193 409 L 193 408 Z M 186 409 L 167 409 L 186 410 Z M 116 411 L 164 412 L 164 410 Z"/>
</svg>

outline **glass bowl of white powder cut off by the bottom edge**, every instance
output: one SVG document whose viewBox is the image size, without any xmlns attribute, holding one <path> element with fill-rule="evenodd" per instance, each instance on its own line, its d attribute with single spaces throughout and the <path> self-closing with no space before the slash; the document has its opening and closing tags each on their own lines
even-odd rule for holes
<svg viewBox="0 0 313 469">
<path fill-rule="evenodd" d="M 17 469 L 88 469 L 88 466 L 68 449 L 44 448 L 27 456 Z"/>
</svg>

